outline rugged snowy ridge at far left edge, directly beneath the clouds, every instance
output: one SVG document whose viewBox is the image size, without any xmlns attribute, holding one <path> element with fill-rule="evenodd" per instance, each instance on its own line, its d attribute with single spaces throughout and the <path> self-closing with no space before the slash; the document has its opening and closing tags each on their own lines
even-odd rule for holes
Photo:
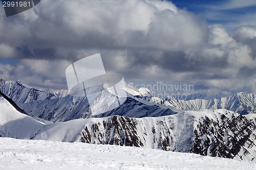
<svg viewBox="0 0 256 170">
<path fill-rule="evenodd" d="M 17 80 L 11 81 L 0 79 L 0 91 L 7 95 L 16 104 L 56 98 L 54 94 L 31 88 Z"/>
</svg>

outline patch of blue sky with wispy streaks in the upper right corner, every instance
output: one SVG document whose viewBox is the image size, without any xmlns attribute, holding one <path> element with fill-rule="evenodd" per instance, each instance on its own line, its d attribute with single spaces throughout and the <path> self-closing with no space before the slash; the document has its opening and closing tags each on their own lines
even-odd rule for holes
<svg viewBox="0 0 256 170">
<path fill-rule="evenodd" d="M 173 0 L 178 8 L 185 8 L 190 12 L 205 18 L 209 24 L 223 25 L 229 34 L 244 25 L 256 25 L 255 0 Z"/>
</svg>

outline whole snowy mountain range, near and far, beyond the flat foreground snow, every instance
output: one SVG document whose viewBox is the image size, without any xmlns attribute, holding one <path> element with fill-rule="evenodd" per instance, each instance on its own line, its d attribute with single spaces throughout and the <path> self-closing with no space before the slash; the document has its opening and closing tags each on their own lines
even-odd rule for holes
<svg viewBox="0 0 256 170">
<path fill-rule="evenodd" d="M 150 90 L 129 89 L 119 107 L 90 115 L 86 97 L 60 98 L 19 81 L 0 81 L 0 136 L 115 144 L 255 161 L 255 95 L 220 99 L 159 99 Z M 97 98 L 109 91 L 104 86 Z M 95 99 L 97 100 L 97 99 Z M 110 110 L 105 112 L 104 110 Z M 39 118 L 38 118 L 39 117 Z"/>
</svg>

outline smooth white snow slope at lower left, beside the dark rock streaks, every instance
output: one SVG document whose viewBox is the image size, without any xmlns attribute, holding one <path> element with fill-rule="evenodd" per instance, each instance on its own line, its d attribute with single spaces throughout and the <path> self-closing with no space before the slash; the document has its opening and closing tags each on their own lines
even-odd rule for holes
<svg viewBox="0 0 256 170">
<path fill-rule="evenodd" d="M 41 119 L 39 119 L 41 120 Z M 46 123 L 42 123 L 46 122 Z M 53 124 L 20 113 L 0 95 L 0 136 L 19 139 L 42 139 L 53 141 L 80 141 L 86 119 Z"/>
</svg>

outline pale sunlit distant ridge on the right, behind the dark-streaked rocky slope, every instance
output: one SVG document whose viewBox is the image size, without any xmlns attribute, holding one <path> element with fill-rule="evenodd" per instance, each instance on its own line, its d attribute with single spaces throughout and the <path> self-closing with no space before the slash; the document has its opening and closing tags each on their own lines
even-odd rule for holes
<svg viewBox="0 0 256 170">
<path fill-rule="evenodd" d="M 245 92 L 239 92 L 237 94 L 227 96 L 227 97 L 217 97 L 211 98 L 209 100 L 205 99 L 194 99 L 194 100 L 177 100 L 174 98 L 166 98 L 160 99 L 154 92 L 150 91 L 146 88 L 138 89 L 136 95 L 135 90 L 129 90 L 131 95 L 136 98 L 140 98 L 146 100 L 148 102 L 175 107 L 178 109 L 184 110 L 205 110 L 205 109 L 227 109 L 231 110 L 240 114 L 255 114 L 256 113 L 256 95 L 255 94 L 248 94 Z M 144 93 L 141 93 L 143 91 Z M 192 99 L 195 97 L 190 96 Z M 200 98 L 203 98 L 204 95 L 199 95 Z M 205 95 L 206 99 L 208 98 Z"/>
</svg>

